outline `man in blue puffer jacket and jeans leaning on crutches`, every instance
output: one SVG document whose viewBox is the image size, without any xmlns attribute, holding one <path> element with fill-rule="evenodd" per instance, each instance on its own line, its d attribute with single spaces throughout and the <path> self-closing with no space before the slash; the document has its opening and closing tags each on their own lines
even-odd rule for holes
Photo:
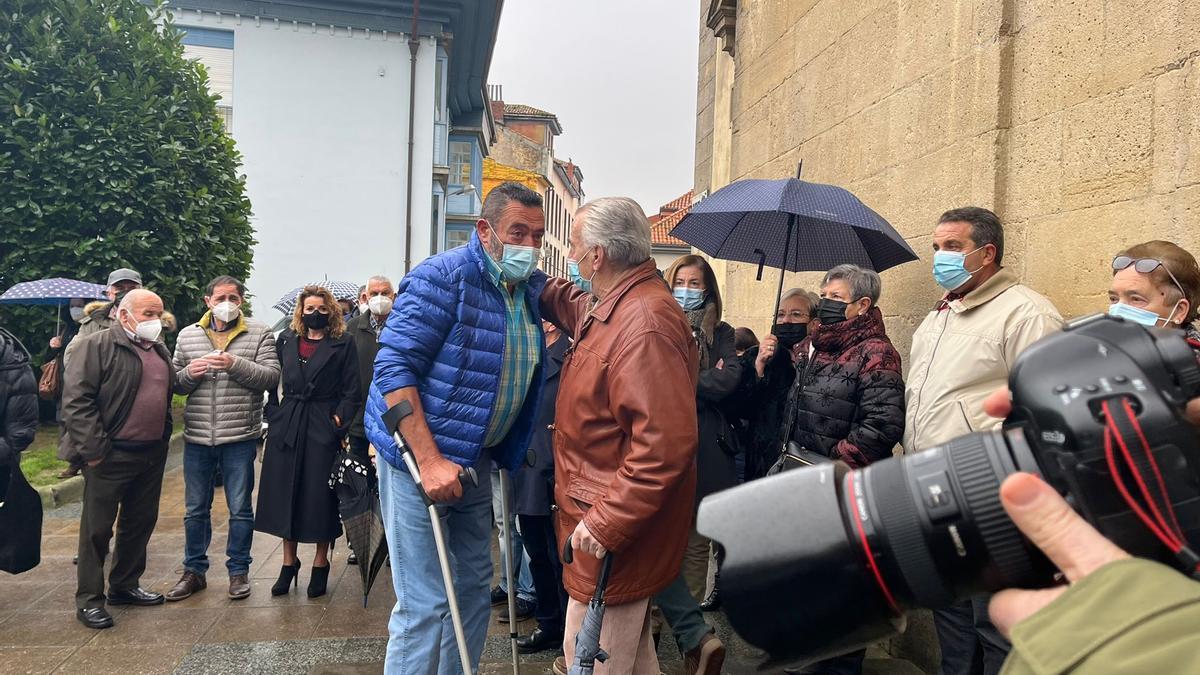
<svg viewBox="0 0 1200 675">
<path fill-rule="evenodd" d="M 460 671 L 433 531 L 382 416 L 402 400 L 401 423 L 426 492 L 443 509 L 470 663 L 487 637 L 492 580 L 492 461 L 521 466 L 542 388 L 545 339 L 535 271 L 546 220 L 541 196 L 505 183 L 484 202 L 466 246 L 433 256 L 400 283 L 364 423 L 379 462 L 379 497 L 391 552 L 396 607 L 385 673 Z M 474 466 L 478 486 L 458 483 Z"/>
</svg>

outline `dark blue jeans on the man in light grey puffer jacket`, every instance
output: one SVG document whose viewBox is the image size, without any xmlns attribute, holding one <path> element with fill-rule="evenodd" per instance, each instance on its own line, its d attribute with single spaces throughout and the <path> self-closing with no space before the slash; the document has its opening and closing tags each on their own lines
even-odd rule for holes
<svg viewBox="0 0 1200 675">
<path fill-rule="evenodd" d="M 224 477 L 226 504 L 229 507 L 229 537 L 226 542 L 226 567 L 229 575 L 250 573 L 250 544 L 254 537 L 254 509 L 250 496 L 254 491 L 254 455 L 258 441 L 240 441 L 223 446 L 184 443 L 184 568 L 197 574 L 209 571 L 209 543 L 212 542 L 212 479 Z"/>
</svg>

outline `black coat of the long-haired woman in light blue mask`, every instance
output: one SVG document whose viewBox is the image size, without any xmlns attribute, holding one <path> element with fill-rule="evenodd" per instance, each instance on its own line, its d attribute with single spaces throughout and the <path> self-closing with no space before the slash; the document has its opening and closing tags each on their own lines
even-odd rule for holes
<svg viewBox="0 0 1200 675">
<path fill-rule="evenodd" d="M 700 424 L 696 503 L 738 483 L 734 462 L 738 442 L 726 422 L 722 404 L 738 388 L 742 360 L 733 347 L 732 325 L 720 322 L 712 333 L 713 341 L 707 346 L 708 358 L 700 364 L 700 381 L 696 384 L 696 418 Z"/>
</svg>

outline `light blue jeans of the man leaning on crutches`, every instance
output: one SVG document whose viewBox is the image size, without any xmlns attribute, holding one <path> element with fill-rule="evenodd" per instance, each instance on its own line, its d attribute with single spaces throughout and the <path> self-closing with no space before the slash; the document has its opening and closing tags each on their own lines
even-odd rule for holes
<svg viewBox="0 0 1200 675">
<path fill-rule="evenodd" d="M 492 480 L 486 456 L 475 464 L 479 485 L 461 500 L 438 507 L 450 549 L 458 609 L 469 659 L 479 667 L 491 616 Z M 388 621 L 386 675 L 461 675 L 450 604 L 433 545 L 433 526 L 408 471 L 378 462 L 379 501 L 391 554 L 396 605 Z"/>
</svg>

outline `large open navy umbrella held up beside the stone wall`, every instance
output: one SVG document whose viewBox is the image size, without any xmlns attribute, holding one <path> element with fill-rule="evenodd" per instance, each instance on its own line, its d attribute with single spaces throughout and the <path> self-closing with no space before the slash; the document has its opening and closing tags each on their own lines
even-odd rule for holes
<svg viewBox="0 0 1200 675">
<path fill-rule="evenodd" d="M 797 172 L 797 175 L 799 172 Z M 722 261 L 758 263 L 785 271 L 824 271 L 852 263 L 883 271 L 917 253 L 880 214 L 835 185 L 746 179 L 694 205 L 672 231 Z M 779 275 L 779 295 L 784 274 Z"/>
</svg>

